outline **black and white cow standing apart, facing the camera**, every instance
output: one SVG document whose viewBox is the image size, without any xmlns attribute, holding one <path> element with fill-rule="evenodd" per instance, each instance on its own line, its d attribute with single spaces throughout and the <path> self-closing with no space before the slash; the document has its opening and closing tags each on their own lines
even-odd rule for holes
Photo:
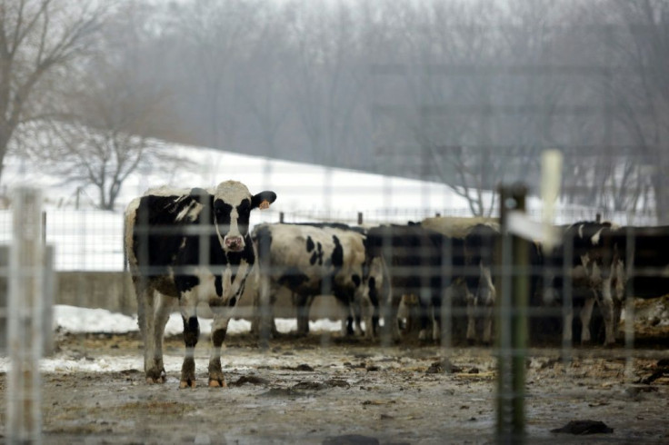
<svg viewBox="0 0 669 445">
<path fill-rule="evenodd" d="M 214 190 L 153 189 L 128 205 L 125 247 L 145 345 L 146 381 L 165 382 L 165 323 L 178 302 L 185 341 L 180 386 L 195 387 L 200 333 L 195 308 L 208 302 L 214 312 L 209 386 L 225 386 L 221 345 L 255 265 L 249 216 L 275 199 L 274 192 L 253 195 L 245 184 L 226 181 Z"/>
</svg>

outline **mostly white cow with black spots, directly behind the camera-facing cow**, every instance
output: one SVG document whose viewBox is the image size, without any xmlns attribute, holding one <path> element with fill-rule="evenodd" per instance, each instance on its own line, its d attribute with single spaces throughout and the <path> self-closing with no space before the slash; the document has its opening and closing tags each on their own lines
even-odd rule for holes
<svg viewBox="0 0 669 445">
<path fill-rule="evenodd" d="M 379 301 L 387 294 L 381 258 L 367 255 L 364 231 L 337 223 L 279 223 L 255 227 L 261 281 L 257 303 L 261 317 L 253 331 L 266 337 L 263 329 L 273 325 L 273 307 L 280 287 L 294 294 L 297 332 L 309 332 L 309 308 L 316 295 L 334 295 L 342 308 L 342 335 L 349 333 L 346 322 L 354 312 L 355 327 L 374 337 Z M 264 313 L 266 312 L 266 313 Z M 262 322 L 261 322 L 262 320 Z M 270 324 L 268 324 L 270 323 Z"/>
</svg>

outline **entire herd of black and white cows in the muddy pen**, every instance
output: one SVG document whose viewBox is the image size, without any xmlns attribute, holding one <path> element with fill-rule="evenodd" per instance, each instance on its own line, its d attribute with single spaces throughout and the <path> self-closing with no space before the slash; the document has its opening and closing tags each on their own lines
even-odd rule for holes
<svg viewBox="0 0 669 445">
<path fill-rule="evenodd" d="M 249 282 L 257 286 L 252 331 L 275 333 L 279 288 L 292 292 L 297 329 L 309 330 L 318 295 L 334 295 L 342 333 L 401 337 L 399 311 L 414 302 L 422 339 L 441 339 L 462 313 L 465 339 L 493 341 L 500 228 L 494 220 L 427 218 L 420 223 L 352 227 L 339 223 L 259 224 L 249 215 L 274 203 L 273 192 L 249 193 L 228 181 L 215 189 L 153 189 L 128 205 L 125 243 L 145 342 L 147 381 L 165 381 L 163 335 L 178 305 L 184 320 L 181 386 L 195 386 L 198 302 L 214 313 L 210 386 L 223 386 L 220 350 L 235 305 Z M 582 222 L 562 228 L 550 251 L 528 242 L 531 308 L 555 308 L 533 318 L 531 329 L 551 323 L 572 340 L 574 307 L 582 342 L 591 340 L 594 309 L 604 321 L 604 344 L 616 340 L 626 297 L 654 298 L 669 291 L 667 228 L 616 227 Z M 460 311 L 460 312 L 458 312 Z M 448 317 L 444 319 L 444 315 Z M 447 324 L 446 324 L 447 323 Z"/>
</svg>

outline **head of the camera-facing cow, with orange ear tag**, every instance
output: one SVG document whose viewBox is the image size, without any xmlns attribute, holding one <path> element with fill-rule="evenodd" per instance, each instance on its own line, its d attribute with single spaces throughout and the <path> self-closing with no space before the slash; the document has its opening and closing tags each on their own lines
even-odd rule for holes
<svg viewBox="0 0 669 445">
<path fill-rule="evenodd" d="M 225 252 L 245 249 L 249 216 L 256 208 L 267 208 L 276 200 L 276 193 L 252 195 L 243 183 L 225 181 L 215 189 L 213 207 L 216 236 Z"/>
</svg>

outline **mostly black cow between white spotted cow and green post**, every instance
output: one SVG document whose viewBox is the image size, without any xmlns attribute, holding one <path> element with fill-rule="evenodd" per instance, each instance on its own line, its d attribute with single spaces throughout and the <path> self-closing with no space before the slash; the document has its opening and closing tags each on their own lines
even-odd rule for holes
<svg viewBox="0 0 669 445">
<path fill-rule="evenodd" d="M 432 337 L 441 337 L 441 308 L 444 292 L 452 285 L 464 288 L 467 306 L 468 341 L 476 340 L 478 306 L 484 308 L 483 341 L 492 339 L 492 312 L 495 300 L 492 279 L 495 238 L 498 230 L 487 224 L 474 224 L 459 236 L 448 236 L 422 223 L 385 225 L 367 232 L 368 244 L 384 255 L 389 269 L 393 296 L 385 320 L 397 318 L 403 297 L 414 295 L 420 306 L 420 339 L 428 337 L 432 312 Z"/>
</svg>

